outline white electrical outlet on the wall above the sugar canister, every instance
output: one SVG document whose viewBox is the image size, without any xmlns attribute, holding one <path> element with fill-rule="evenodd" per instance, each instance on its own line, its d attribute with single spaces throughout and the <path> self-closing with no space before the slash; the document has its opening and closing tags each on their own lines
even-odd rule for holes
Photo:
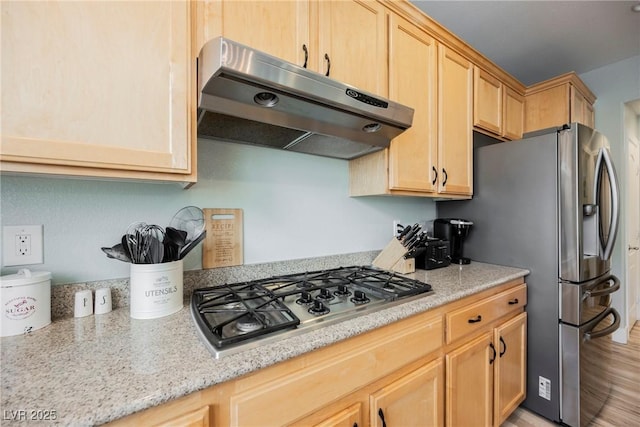
<svg viewBox="0 0 640 427">
<path fill-rule="evenodd" d="M 2 264 L 42 264 L 44 245 L 42 225 L 5 225 L 2 227 Z"/>
</svg>

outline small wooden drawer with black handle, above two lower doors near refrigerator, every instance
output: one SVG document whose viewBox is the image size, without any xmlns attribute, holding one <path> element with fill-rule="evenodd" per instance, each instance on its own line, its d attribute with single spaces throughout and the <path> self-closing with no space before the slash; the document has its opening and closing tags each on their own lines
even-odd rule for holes
<svg viewBox="0 0 640 427">
<path fill-rule="evenodd" d="M 527 289 L 526 285 L 522 284 L 447 313 L 445 316 L 447 344 L 471 332 L 483 329 L 494 320 L 512 311 L 517 311 L 526 304 Z"/>
</svg>

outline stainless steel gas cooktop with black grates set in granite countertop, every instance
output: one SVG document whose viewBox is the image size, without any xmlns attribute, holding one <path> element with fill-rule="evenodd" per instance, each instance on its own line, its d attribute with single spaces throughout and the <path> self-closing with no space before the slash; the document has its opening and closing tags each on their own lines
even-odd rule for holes
<svg viewBox="0 0 640 427">
<path fill-rule="evenodd" d="M 341 267 L 196 289 L 191 315 L 218 358 L 426 293 L 391 271 Z"/>
</svg>

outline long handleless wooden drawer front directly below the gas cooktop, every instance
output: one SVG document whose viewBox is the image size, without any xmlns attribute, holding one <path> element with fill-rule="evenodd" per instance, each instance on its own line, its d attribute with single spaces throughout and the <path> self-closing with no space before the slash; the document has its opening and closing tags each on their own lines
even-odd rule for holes
<svg viewBox="0 0 640 427">
<path fill-rule="evenodd" d="M 231 426 L 282 425 L 383 378 L 442 346 L 442 316 L 416 316 L 372 334 L 369 342 L 339 346 L 325 362 L 231 396 Z M 338 348 L 346 347 L 344 351 Z M 403 351 L 398 352 L 398 348 Z M 312 392 L 310 392 L 312 391 Z"/>
</svg>

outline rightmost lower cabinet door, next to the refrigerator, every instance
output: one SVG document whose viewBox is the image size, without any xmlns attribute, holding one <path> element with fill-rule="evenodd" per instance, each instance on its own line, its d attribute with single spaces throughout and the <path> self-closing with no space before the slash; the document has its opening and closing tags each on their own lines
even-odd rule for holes
<svg viewBox="0 0 640 427">
<path fill-rule="evenodd" d="M 527 313 L 494 330 L 494 426 L 499 426 L 526 396 Z"/>
</svg>

